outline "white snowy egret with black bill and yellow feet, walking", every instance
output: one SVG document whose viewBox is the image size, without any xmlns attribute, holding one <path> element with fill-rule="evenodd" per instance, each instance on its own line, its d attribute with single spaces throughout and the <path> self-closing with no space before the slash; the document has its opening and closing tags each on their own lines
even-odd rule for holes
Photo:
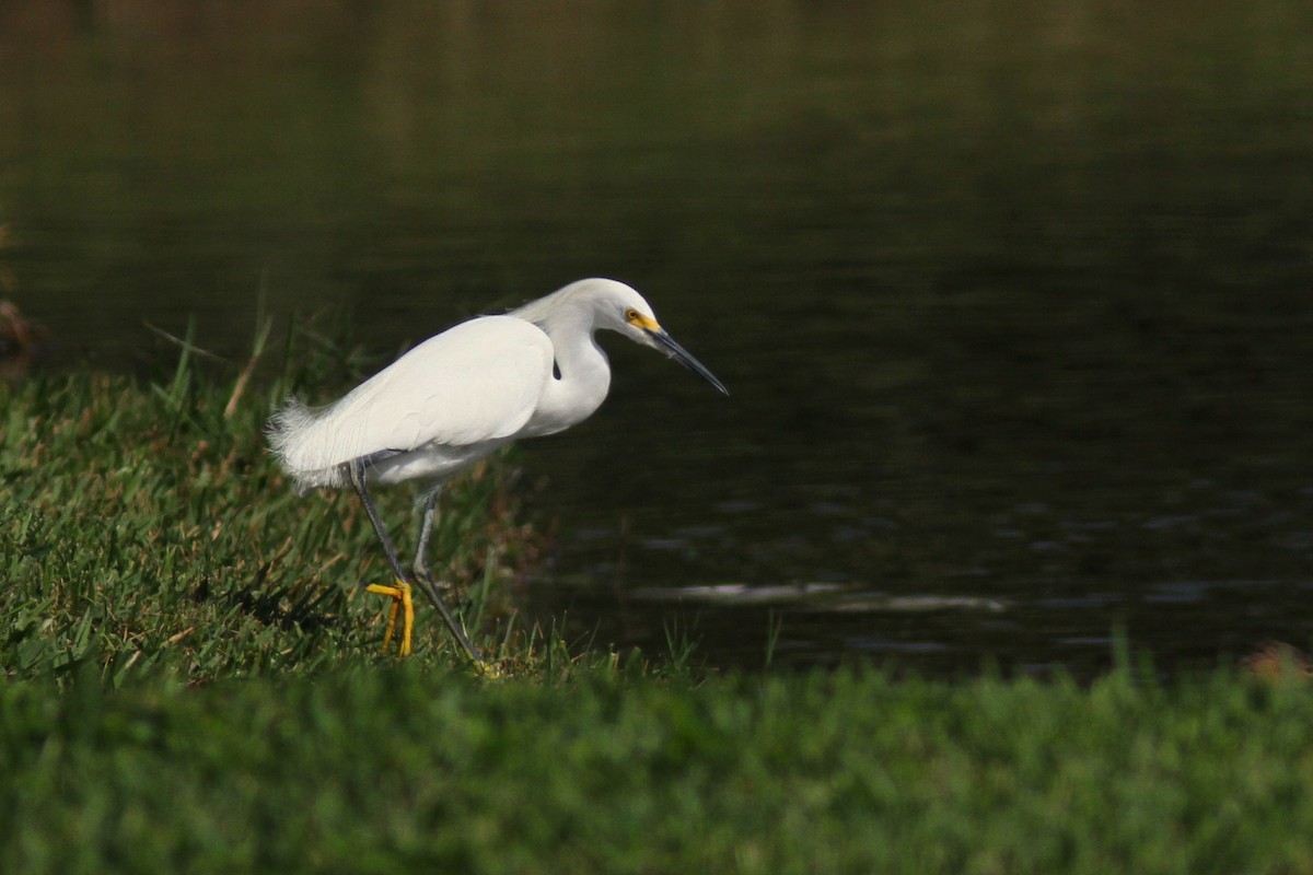
<svg viewBox="0 0 1313 875">
<path fill-rule="evenodd" d="M 613 279 L 580 279 L 503 316 L 470 319 L 415 346 L 340 400 L 310 409 L 289 399 L 269 443 L 301 492 L 351 484 L 387 554 L 395 585 L 383 648 L 404 610 L 410 653 L 411 584 L 419 584 L 475 662 L 478 651 L 442 602 L 428 567 L 437 496 L 456 472 L 521 437 L 554 434 L 588 418 L 607 397 L 611 367 L 593 333 L 605 328 L 666 353 L 721 392 L 729 390 L 656 323 L 642 295 Z M 420 480 L 412 576 L 397 558 L 369 497 L 370 484 Z"/>
</svg>

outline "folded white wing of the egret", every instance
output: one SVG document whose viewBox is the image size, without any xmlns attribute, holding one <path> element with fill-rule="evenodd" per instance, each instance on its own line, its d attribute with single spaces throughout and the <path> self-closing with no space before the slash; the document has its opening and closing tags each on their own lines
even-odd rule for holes
<svg viewBox="0 0 1313 875">
<path fill-rule="evenodd" d="M 517 433 L 551 378 L 551 341 L 512 316 L 461 323 L 415 346 L 330 407 L 281 425 L 291 470 L 330 468 L 427 443 L 467 446 Z"/>
</svg>

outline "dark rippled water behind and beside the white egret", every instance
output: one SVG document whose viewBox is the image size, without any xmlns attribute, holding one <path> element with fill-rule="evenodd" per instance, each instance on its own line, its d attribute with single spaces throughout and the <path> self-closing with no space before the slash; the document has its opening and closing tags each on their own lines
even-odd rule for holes
<svg viewBox="0 0 1313 875">
<path fill-rule="evenodd" d="M 1313 639 L 1306 3 L 14 3 L 0 266 L 54 357 L 379 352 L 583 275 L 529 610 L 713 664 Z M 0 273 L 0 277 L 8 275 Z M 326 388 L 323 399 L 341 387 Z"/>
</svg>

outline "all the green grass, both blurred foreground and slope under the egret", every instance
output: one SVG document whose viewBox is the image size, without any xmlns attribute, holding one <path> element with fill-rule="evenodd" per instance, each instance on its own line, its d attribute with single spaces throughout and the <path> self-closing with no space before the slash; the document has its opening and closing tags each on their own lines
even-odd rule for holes
<svg viewBox="0 0 1313 875">
<path fill-rule="evenodd" d="M 368 521 L 263 447 L 290 384 L 349 382 L 299 357 L 263 388 L 188 356 L 0 387 L 0 871 L 1313 872 L 1296 673 L 570 652 L 506 596 L 537 546 L 504 459 L 453 487 L 435 550 L 503 678 L 431 611 L 416 657 L 379 655 Z"/>
</svg>

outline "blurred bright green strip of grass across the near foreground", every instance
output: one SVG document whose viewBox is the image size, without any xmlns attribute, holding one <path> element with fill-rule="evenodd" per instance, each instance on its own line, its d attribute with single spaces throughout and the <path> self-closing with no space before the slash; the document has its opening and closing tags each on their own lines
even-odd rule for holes
<svg viewBox="0 0 1313 875">
<path fill-rule="evenodd" d="M 1309 872 L 1313 697 L 840 672 L 0 687 L 0 868 Z"/>
</svg>

